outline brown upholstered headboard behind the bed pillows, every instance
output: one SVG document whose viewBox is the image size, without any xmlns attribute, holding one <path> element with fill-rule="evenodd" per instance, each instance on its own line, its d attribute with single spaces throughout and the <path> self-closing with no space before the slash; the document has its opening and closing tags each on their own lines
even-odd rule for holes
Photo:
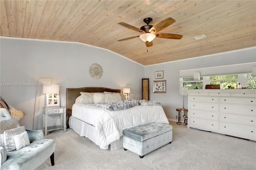
<svg viewBox="0 0 256 170">
<path fill-rule="evenodd" d="M 120 89 L 109 89 L 105 87 L 67 88 L 66 89 L 67 128 L 69 128 L 69 125 L 68 125 L 69 117 L 72 115 L 72 106 L 75 103 L 76 98 L 81 95 L 80 92 L 103 93 L 104 91 L 121 93 Z"/>
</svg>

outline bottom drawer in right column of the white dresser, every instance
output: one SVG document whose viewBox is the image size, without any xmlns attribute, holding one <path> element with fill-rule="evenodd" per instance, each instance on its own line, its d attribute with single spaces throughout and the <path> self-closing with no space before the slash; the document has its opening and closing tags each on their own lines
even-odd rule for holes
<svg viewBox="0 0 256 170">
<path fill-rule="evenodd" d="M 256 127 L 220 122 L 220 130 L 256 137 Z"/>
</svg>

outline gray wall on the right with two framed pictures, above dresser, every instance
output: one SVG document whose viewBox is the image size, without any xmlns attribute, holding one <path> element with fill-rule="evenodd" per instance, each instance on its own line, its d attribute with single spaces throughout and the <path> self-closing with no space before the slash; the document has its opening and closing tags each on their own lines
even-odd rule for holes
<svg viewBox="0 0 256 170">
<path fill-rule="evenodd" d="M 170 56 L 171 57 L 171 56 Z M 214 67 L 256 61 L 256 49 L 231 51 L 205 57 L 196 57 L 145 67 L 145 77 L 150 79 L 150 100 L 160 101 L 169 119 L 176 119 L 176 108 L 182 108 L 183 96 L 180 95 L 179 71 L 204 67 Z M 155 71 L 164 70 L 163 79 L 155 79 Z M 153 81 L 166 80 L 166 93 L 153 93 Z M 188 97 L 184 96 L 184 107 L 188 108 Z"/>
</svg>

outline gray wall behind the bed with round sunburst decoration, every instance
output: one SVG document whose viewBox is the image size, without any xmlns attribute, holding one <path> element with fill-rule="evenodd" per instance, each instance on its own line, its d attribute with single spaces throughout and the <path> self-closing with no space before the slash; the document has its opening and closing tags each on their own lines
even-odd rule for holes
<svg viewBox="0 0 256 170">
<path fill-rule="evenodd" d="M 39 77 L 52 77 L 53 84 L 60 85 L 61 105 L 66 105 L 66 88 L 109 87 L 123 89 L 131 85 L 133 99 L 141 99 L 141 79 L 144 66 L 106 49 L 80 43 L 46 42 L 27 39 L 0 39 L 0 83 L 37 83 Z M 98 63 L 103 76 L 93 79 L 89 67 Z M 40 79 L 49 83 L 49 79 Z M 1 86 L 1 96 L 26 116 L 21 125 L 32 129 L 36 87 Z M 35 129 L 42 129 L 42 107 L 45 96 L 38 87 Z M 56 119 L 57 124 L 60 119 Z M 52 120 L 48 121 L 52 123 Z"/>
</svg>

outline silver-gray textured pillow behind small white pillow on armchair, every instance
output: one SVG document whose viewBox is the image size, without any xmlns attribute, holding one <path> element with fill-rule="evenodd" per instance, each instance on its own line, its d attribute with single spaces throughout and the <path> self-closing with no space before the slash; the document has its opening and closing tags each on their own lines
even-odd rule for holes
<svg viewBox="0 0 256 170">
<path fill-rule="evenodd" d="M 11 130 L 4 131 L 4 147 L 7 152 L 13 151 L 16 149 L 16 144 L 14 142 L 14 136 L 25 132 L 25 127 L 18 127 Z"/>
</svg>

